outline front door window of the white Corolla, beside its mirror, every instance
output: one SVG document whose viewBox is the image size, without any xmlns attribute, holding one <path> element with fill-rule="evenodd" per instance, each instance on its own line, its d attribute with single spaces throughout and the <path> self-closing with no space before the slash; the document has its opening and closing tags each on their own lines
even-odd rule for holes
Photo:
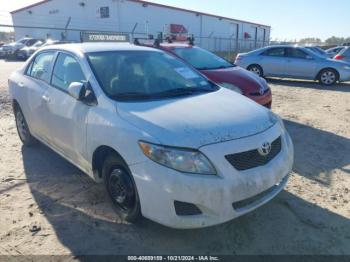
<svg viewBox="0 0 350 262">
<path fill-rule="evenodd" d="M 71 55 L 60 53 L 55 63 L 51 84 L 62 90 L 67 90 L 71 83 L 84 82 L 85 80 L 78 61 Z"/>
</svg>

